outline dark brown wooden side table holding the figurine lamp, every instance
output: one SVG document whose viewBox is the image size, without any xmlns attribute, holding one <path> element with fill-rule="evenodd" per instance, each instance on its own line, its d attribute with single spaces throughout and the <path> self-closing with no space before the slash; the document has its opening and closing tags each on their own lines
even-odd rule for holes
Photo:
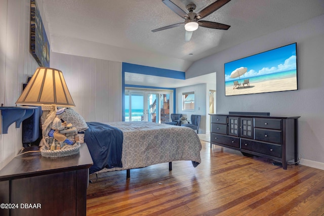
<svg viewBox="0 0 324 216">
<path fill-rule="evenodd" d="M 18 155 L 0 170 L 0 215 L 86 215 L 92 164 L 86 144 L 66 157 Z"/>
</svg>

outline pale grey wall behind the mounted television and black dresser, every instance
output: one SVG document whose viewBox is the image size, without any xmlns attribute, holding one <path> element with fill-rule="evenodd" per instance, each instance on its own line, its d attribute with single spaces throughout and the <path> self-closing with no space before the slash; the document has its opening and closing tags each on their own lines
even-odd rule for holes
<svg viewBox="0 0 324 216">
<path fill-rule="evenodd" d="M 245 111 L 301 116 L 298 131 L 301 164 L 324 169 L 323 23 L 324 15 L 244 42 L 195 62 L 186 71 L 186 77 L 216 71 L 217 113 Z M 298 91 L 225 97 L 224 63 L 293 42 L 297 42 Z"/>
</svg>

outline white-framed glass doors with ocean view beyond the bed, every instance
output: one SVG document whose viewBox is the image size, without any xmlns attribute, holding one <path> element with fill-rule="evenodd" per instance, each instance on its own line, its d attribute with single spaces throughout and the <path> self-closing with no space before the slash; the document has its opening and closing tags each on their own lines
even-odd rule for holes
<svg viewBox="0 0 324 216">
<path fill-rule="evenodd" d="M 125 89 L 125 121 L 168 122 L 172 94 L 172 91 Z"/>
</svg>

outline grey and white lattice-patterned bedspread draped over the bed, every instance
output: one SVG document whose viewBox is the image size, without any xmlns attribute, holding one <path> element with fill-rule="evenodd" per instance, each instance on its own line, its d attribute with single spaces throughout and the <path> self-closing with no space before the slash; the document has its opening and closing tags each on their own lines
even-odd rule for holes
<svg viewBox="0 0 324 216">
<path fill-rule="evenodd" d="M 201 144 L 189 127 L 145 121 L 108 122 L 124 135 L 123 167 L 104 168 L 99 172 L 140 168 L 176 160 L 200 163 Z M 194 164 L 194 163 L 193 163 Z"/>
</svg>

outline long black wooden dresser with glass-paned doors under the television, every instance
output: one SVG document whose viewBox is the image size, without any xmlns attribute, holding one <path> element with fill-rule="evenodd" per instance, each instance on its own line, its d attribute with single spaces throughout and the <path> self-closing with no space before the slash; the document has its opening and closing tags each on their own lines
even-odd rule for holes
<svg viewBox="0 0 324 216">
<path fill-rule="evenodd" d="M 257 155 L 298 163 L 298 118 L 270 116 L 269 113 L 229 112 L 210 114 L 211 147 L 213 144 L 236 149 L 243 155 Z"/>
</svg>

